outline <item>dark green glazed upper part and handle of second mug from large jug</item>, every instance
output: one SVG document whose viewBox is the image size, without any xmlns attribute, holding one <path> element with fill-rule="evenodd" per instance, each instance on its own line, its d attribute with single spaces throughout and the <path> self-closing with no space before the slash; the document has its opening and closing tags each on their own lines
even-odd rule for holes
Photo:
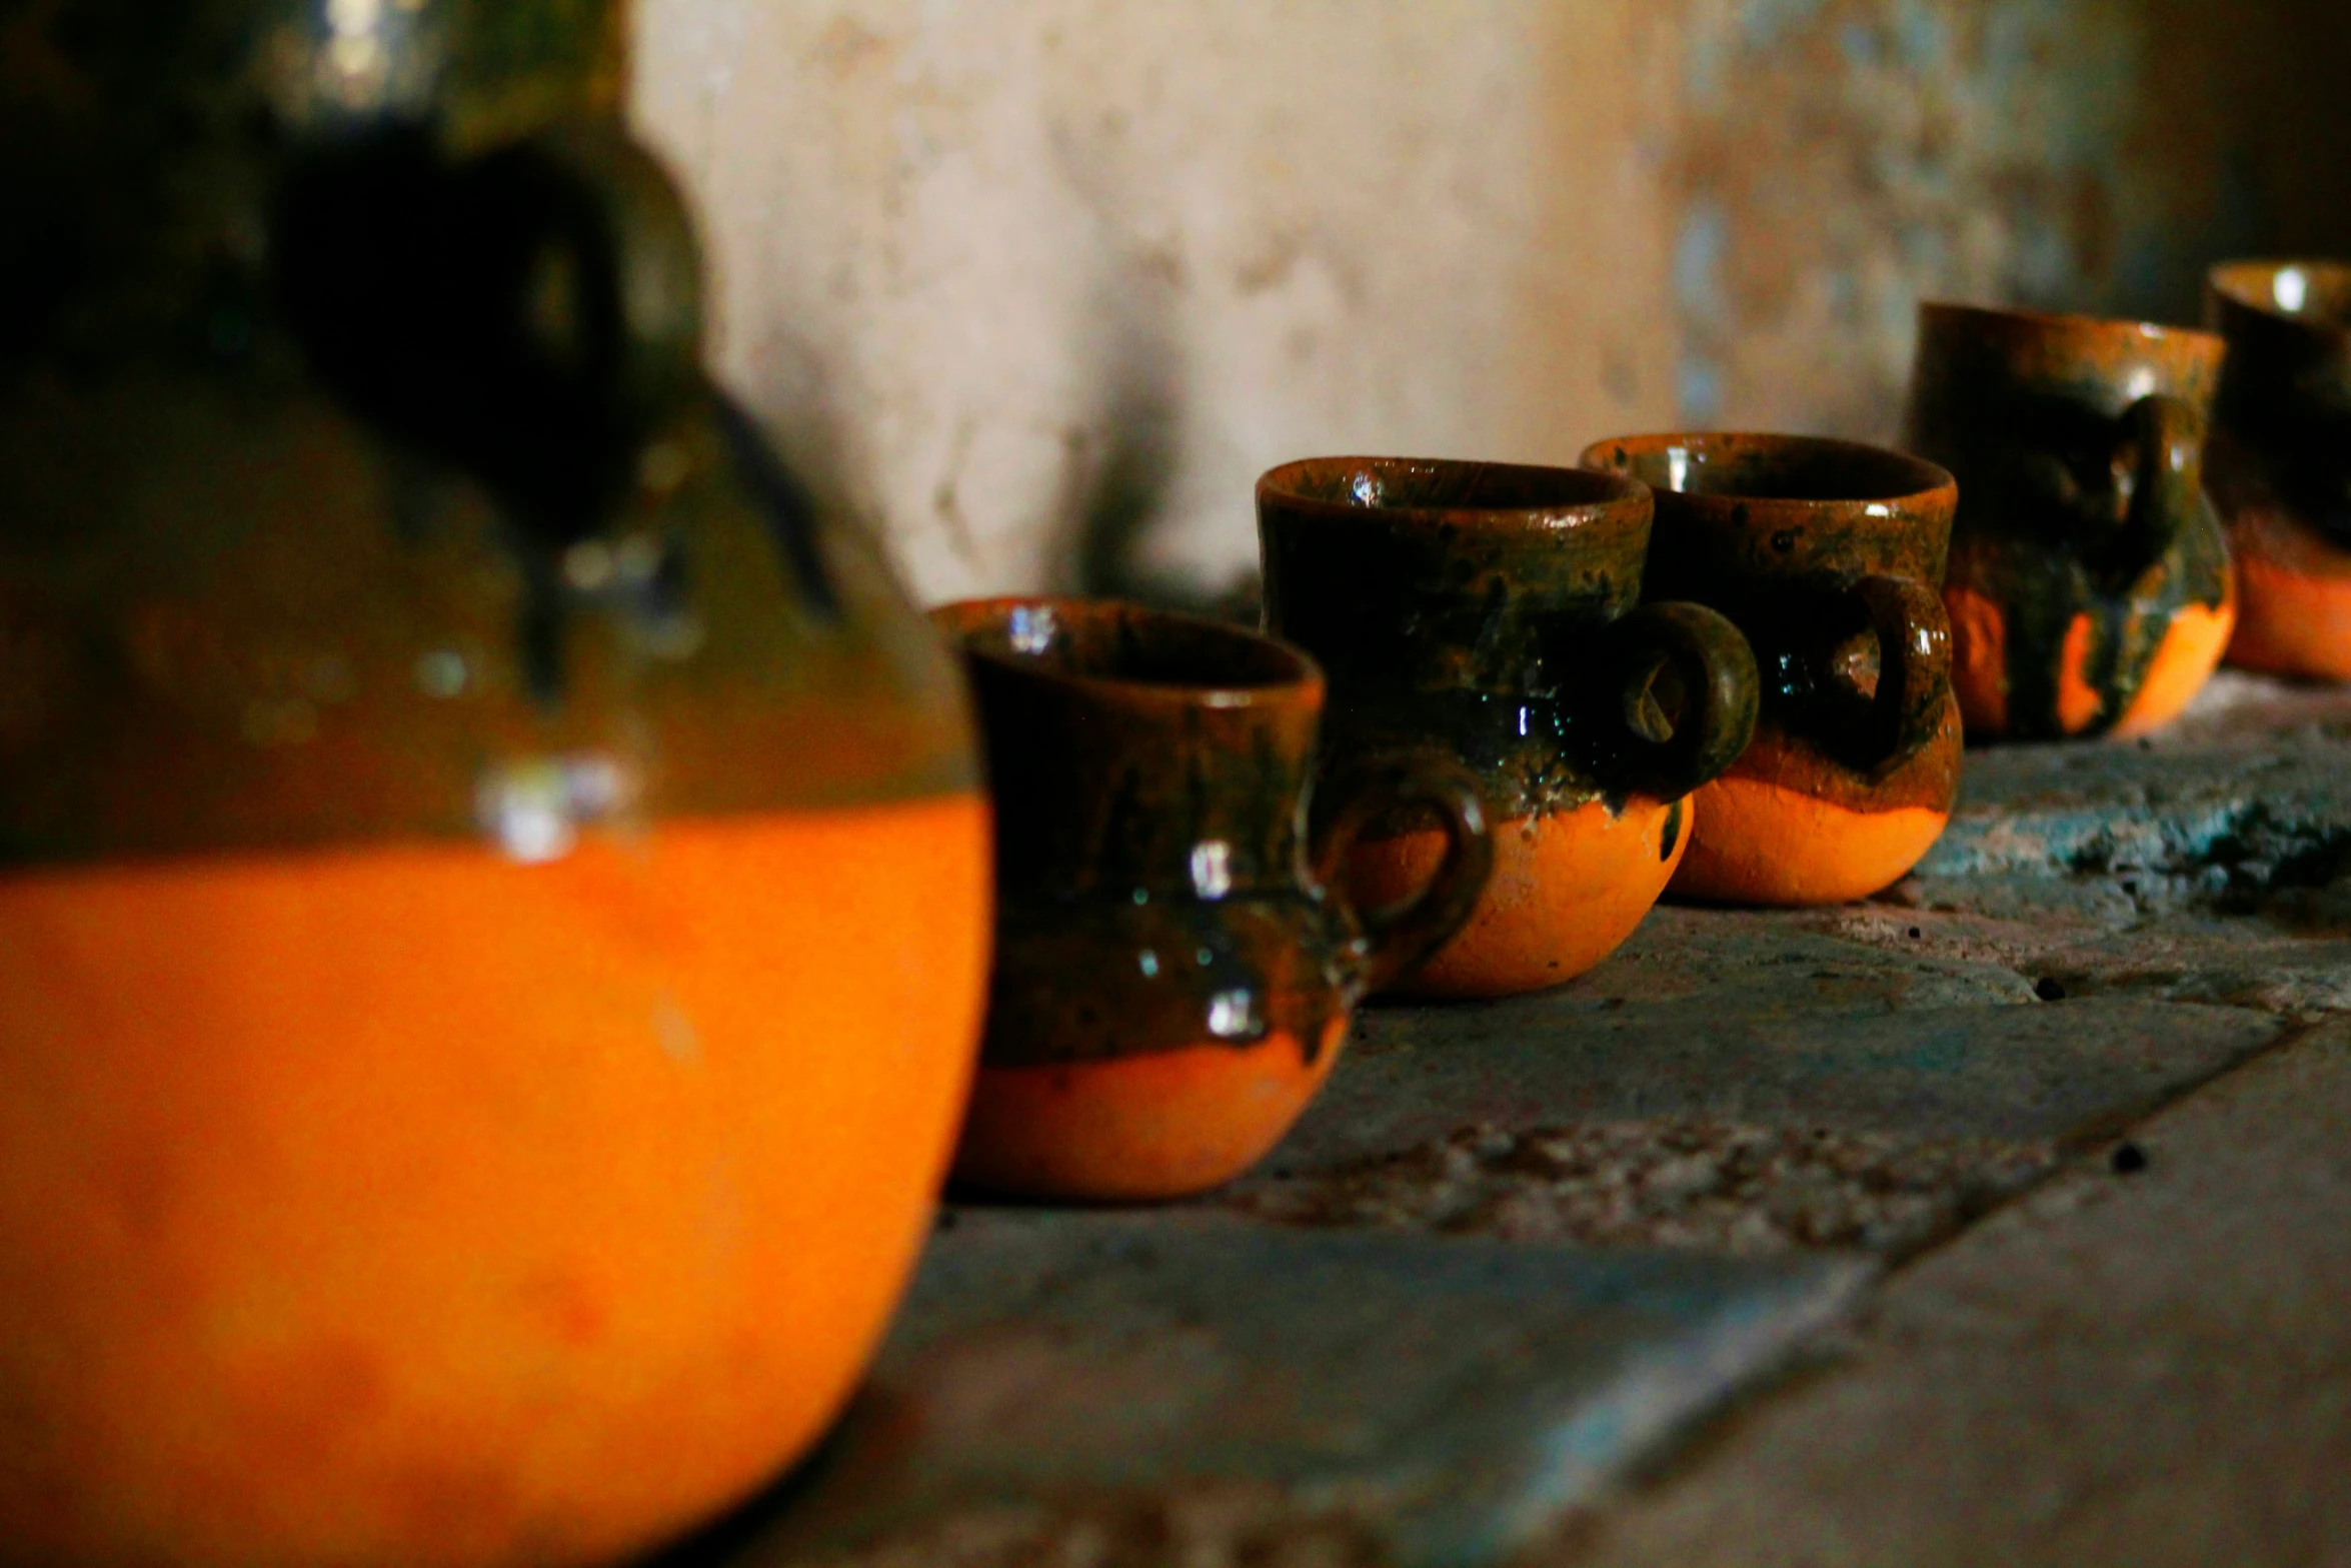
<svg viewBox="0 0 2351 1568">
<path fill-rule="evenodd" d="M 1568 468 L 1267 473 L 1265 623 L 1331 677 L 1331 766 L 1436 748 L 1498 820 L 1679 799 L 1721 773 L 1754 726 L 1754 661 L 1702 607 L 1641 609 L 1648 529 L 1639 484 Z"/>
</svg>

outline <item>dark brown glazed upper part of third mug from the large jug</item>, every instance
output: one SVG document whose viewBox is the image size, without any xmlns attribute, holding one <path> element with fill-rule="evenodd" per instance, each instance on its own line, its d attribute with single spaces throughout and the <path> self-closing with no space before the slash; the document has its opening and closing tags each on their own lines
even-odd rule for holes
<svg viewBox="0 0 2351 1568">
<path fill-rule="evenodd" d="M 1956 764 L 1930 743 L 1951 705 L 1935 595 L 1951 475 L 1803 435 L 1629 435 L 1582 461 L 1655 494 L 1648 592 L 1709 604 L 1747 635 L 1751 755 L 1777 783 L 1855 811 L 1949 809 Z"/>
</svg>

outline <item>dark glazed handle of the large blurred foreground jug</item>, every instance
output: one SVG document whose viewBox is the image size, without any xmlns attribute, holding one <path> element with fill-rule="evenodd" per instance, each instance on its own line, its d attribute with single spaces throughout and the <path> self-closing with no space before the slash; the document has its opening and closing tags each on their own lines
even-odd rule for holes
<svg viewBox="0 0 2351 1568">
<path fill-rule="evenodd" d="M 555 543 L 602 524 L 705 386 L 694 226 L 618 122 L 461 160 L 404 129 L 320 150 L 282 181 L 270 244 L 327 388 Z"/>
</svg>

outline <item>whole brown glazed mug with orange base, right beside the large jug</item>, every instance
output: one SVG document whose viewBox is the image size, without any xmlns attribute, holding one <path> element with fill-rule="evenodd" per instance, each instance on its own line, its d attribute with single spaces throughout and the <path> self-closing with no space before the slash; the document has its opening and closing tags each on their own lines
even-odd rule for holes
<svg viewBox="0 0 2351 1568">
<path fill-rule="evenodd" d="M 1324 710 L 1272 637 L 1114 602 L 933 611 L 964 649 L 997 802 L 997 957 L 955 1175 L 1164 1199 L 1246 1171 L 1331 1074 L 1347 1011 L 1469 914 L 1491 867 L 1465 773 L 1338 785 L 1307 832 Z M 1406 900 L 1331 891 L 1366 823 L 1434 811 Z"/>
</svg>

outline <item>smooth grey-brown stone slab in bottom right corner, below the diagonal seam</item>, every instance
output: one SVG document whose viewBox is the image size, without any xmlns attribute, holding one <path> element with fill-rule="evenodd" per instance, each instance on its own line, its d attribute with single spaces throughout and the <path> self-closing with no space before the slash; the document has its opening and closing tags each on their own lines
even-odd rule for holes
<svg viewBox="0 0 2351 1568">
<path fill-rule="evenodd" d="M 2351 1563 L 2351 1027 L 1893 1276 L 1528 1563 Z"/>
</svg>

